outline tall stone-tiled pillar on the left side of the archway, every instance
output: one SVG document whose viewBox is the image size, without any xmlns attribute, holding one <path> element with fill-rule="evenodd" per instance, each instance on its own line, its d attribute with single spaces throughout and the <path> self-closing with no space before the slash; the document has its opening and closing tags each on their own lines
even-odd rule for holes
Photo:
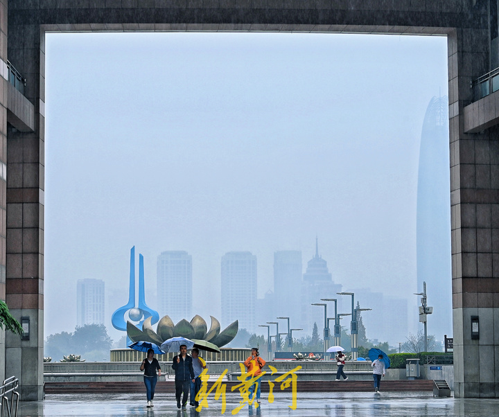
<svg viewBox="0 0 499 417">
<path fill-rule="evenodd" d="M 44 309 L 44 34 L 40 25 L 9 26 L 9 60 L 26 78 L 35 107 L 35 132 L 7 133 L 6 301 L 28 317 L 30 338 L 6 335 L 6 375 L 21 385 L 21 400 L 43 398 Z"/>
</svg>

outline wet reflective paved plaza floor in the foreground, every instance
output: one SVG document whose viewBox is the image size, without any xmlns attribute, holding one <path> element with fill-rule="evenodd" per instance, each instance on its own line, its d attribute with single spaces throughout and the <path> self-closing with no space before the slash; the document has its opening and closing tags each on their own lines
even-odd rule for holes
<svg viewBox="0 0 499 417">
<path fill-rule="evenodd" d="M 227 393 L 224 416 L 231 416 L 240 396 Z M 220 416 L 222 400 L 209 397 L 208 408 L 195 411 L 177 409 L 171 394 L 155 396 L 155 407 L 146 408 L 146 394 L 51 394 L 38 402 L 19 402 L 18 416 Z M 499 400 L 474 398 L 434 398 L 432 393 L 297 393 L 297 407 L 291 409 L 292 396 L 276 393 L 273 402 L 262 396 L 260 407 L 245 405 L 237 416 L 499 416 Z"/>
</svg>

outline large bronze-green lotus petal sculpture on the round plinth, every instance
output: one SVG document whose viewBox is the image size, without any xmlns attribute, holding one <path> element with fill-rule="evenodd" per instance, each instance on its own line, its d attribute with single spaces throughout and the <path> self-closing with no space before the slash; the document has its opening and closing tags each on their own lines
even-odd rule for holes
<svg viewBox="0 0 499 417">
<path fill-rule="evenodd" d="M 200 341 L 209 341 L 218 348 L 228 344 L 236 337 L 239 322 L 236 320 L 227 328 L 220 332 L 220 322 L 213 316 L 211 317 L 211 327 L 207 331 L 207 323 L 202 317 L 196 314 L 191 322 L 186 319 L 180 320 L 176 325 L 168 316 L 164 316 L 157 324 L 156 331 L 152 329 L 152 317 L 148 317 L 142 323 L 142 330 L 133 323 L 127 321 L 127 335 L 131 341 L 151 341 L 161 345 L 166 339 L 171 337 L 185 337 L 186 339 L 196 339 Z"/>
</svg>

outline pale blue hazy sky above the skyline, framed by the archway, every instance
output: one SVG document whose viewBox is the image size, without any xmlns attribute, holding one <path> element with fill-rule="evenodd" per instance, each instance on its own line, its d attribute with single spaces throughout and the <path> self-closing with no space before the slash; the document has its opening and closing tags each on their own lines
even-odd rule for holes
<svg viewBox="0 0 499 417">
<path fill-rule="evenodd" d="M 419 142 L 447 95 L 445 37 L 73 33 L 46 52 L 46 335 L 76 326 L 78 279 L 123 288 L 108 318 L 128 301 L 134 245 L 151 308 L 161 251 L 193 256 L 193 313 L 220 319 L 222 255 L 256 255 L 262 297 L 274 251 L 306 267 L 315 236 L 344 290 L 417 305 Z"/>
</svg>

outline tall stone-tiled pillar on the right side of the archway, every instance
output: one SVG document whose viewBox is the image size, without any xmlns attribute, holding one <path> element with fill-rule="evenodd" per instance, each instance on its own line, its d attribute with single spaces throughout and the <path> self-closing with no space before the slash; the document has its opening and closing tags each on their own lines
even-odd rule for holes
<svg viewBox="0 0 499 417">
<path fill-rule="evenodd" d="M 467 398 L 499 396 L 498 130 L 465 134 L 462 117 L 471 80 L 488 72 L 488 60 L 488 30 L 449 35 L 454 390 Z M 471 335 L 472 316 L 480 320 L 479 339 Z"/>
</svg>

